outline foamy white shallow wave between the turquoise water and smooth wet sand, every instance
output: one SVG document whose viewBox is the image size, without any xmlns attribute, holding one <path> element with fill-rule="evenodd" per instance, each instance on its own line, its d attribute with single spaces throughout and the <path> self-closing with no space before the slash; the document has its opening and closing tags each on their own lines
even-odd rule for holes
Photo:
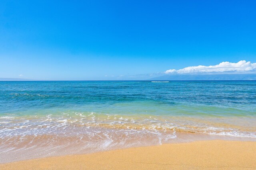
<svg viewBox="0 0 256 170">
<path fill-rule="evenodd" d="M 14 119 L 15 118 L 15 119 Z M 89 113 L 61 113 L 41 116 L 1 116 L 0 137 L 26 136 L 67 133 L 84 133 L 83 128 L 116 129 L 129 133 L 136 130 L 140 133 L 159 133 L 164 136 L 174 132 L 204 133 L 210 135 L 225 135 L 236 137 L 256 138 L 253 126 L 232 125 L 222 122 L 213 122 L 212 119 L 196 119 L 191 117 L 162 117 L 153 115 L 111 115 Z M 242 118 L 240 118 L 242 121 Z M 230 121 L 230 120 L 229 120 Z M 236 119 L 234 119 L 236 121 Z M 244 119 L 248 122 L 248 119 Z M 252 122 L 253 123 L 253 122 Z M 71 129 L 70 129 L 71 128 Z M 19 130 L 17 130 L 19 129 Z M 81 132 L 80 132 L 81 131 Z M 162 138 L 164 139 L 164 137 Z"/>
</svg>

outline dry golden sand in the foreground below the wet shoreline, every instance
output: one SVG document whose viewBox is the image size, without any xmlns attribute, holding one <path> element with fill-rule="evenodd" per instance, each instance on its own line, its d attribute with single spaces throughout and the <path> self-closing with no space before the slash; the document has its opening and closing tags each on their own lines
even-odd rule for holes
<svg viewBox="0 0 256 170">
<path fill-rule="evenodd" d="M 40 158 L 0 169 L 256 169 L 256 142 L 196 141 Z"/>
</svg>

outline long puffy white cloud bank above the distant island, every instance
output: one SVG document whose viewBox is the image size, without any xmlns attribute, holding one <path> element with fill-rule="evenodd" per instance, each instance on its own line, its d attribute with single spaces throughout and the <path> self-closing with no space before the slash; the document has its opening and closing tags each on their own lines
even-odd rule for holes
<svg viewBox="0 0 256 170">
<path fill-rule="evenodd" d="M 164 73 L 189 74 L 189 73 L 248 73 L 256 72 L 256 63 L 241 60 L 238 63 L 222 62 L 214 66 L 189 66 L 180 70 L 170 69 Z"/>
</svg>

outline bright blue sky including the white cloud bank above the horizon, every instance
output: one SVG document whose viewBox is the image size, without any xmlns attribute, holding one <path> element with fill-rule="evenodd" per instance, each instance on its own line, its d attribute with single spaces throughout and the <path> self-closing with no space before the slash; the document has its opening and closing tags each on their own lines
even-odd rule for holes
<svg viewBox="0 0 256 170">
<path fill-rule="evenodd" d="M 255 9 L 255 0 L 1 0 L 0 78 L 253 73 Z"/>
</svg>

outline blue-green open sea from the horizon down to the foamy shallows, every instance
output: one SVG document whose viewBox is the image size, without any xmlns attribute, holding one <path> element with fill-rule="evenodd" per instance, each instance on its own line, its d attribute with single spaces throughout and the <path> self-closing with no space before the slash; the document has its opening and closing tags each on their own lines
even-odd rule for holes
<svg viewBox="0 0 256 170">
<path fill-rule="evenodd" d="M 132 103 L 144 114 L 143 104 L 168 108 L 178 106 L 238 109 L 221 115 L 255 115 L 256 81 L 55 81 L 0 82 L 0 114 L 35 114 L 45 109 L 108 112 L 105 107 Z M 113 108 L 114 109 L 114 108 Z M 187 114 L 193 111 L 184 110 Z M 200 111 L 200 110 L 198 110 Z M 241 112 L 240 112 L 241 111 Z M 113 113 L 116 113 L 113 110 Z M 119 114 L 127 110 L 118 110 Z M 175 115 L 178 112 L 155 110 L 152 114 Z M 211 111 L 206 115 L 212 114 Z M 214 113 L 213 113 L 214 114 Z"/>
</svg>

